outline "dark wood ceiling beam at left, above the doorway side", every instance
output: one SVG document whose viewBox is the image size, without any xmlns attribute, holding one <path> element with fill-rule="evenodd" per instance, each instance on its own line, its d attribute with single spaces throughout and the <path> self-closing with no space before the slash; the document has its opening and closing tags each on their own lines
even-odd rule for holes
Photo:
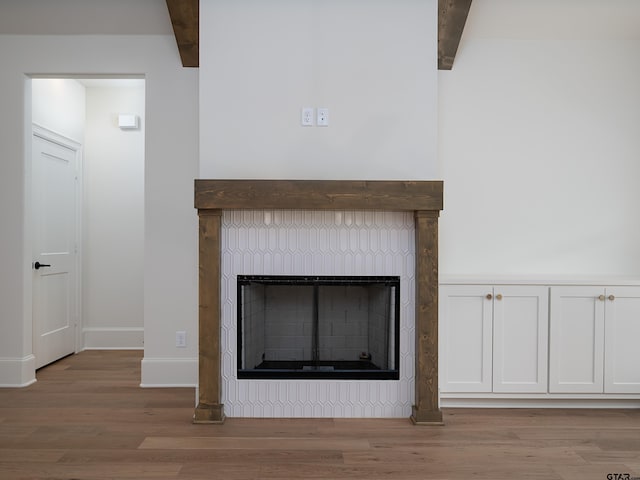
<svg viewBox="0 0 640 480">
<path fill-rule="evenodd" d="M 167 0 L 167 8 L 176 36 L 183 67 L 200 65 L 199 0 Z"/>
</svg>

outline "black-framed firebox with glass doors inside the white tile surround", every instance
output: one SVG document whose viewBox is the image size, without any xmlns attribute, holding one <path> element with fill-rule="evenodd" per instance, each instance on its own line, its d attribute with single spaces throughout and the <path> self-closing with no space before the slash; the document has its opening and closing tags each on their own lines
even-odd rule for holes
<svg viewBox="0 0 640 480">
<path fill-rule="evenodd" d="M 399 277 L 238 276 L 238 378 L 399 378 Z"/>
</svg>

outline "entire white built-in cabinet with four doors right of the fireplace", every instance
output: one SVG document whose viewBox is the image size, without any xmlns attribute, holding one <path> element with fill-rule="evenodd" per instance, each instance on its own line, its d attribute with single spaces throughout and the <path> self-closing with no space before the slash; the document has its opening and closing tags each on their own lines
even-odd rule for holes
<svg viewBox="0 0 640 480">
<path fill-rule="evenodd" d="M 496 280 L 440 284 L 444 406 L 640 405 L 639 280 Z"/>
</svg>

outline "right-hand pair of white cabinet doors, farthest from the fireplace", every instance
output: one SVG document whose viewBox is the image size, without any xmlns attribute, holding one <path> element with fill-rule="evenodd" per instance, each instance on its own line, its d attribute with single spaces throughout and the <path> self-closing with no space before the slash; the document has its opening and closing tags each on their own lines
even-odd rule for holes
<svg viewBox="0 0 640 480">
<path fill-rule="evenodd" d="M 550 393 L 640 393 L 640 287 L 556 286 Z"/>
</svg>

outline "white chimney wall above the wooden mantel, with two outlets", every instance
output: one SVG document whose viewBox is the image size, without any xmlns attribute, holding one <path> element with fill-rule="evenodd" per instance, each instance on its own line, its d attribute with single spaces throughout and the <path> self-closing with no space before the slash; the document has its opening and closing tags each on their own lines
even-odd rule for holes
<svg viewBox="0 0 640 480">
<path fill-rule="evenodd" d="M 435 0 L 217 0 L 200 24 L 202 178 L 438 176 Z"/>
</svg>

